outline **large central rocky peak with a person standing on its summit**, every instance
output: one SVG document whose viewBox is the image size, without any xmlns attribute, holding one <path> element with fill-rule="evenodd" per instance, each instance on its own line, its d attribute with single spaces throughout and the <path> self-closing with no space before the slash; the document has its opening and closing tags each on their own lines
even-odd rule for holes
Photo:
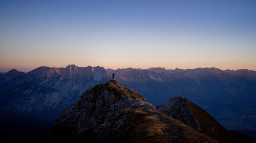
<svg viewBox="0 0 256 143">
<path fill-rule="evenodd" d="M 116 80 L 98 84 L 63 110 L 53 142 L 218 142 L 169 118 Z"/>
</svg>

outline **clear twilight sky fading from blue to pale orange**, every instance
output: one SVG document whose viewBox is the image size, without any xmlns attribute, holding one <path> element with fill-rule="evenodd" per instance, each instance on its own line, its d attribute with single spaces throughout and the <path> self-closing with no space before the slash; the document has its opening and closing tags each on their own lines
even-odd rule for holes
<svg viewBox="0 0 256 143">
<path fill-rule="evenodd" d="M 0 1 L 0 71 L 256 70 L 256 1 Z"/>
</svg>

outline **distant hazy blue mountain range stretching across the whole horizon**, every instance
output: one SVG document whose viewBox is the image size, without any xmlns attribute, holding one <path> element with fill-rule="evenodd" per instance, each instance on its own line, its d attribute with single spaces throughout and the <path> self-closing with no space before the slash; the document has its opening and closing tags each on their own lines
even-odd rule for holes
<svg viewBox="0 0 256 143">
<path fill-rule="evenodd" d="M 60 111 L 98 83 L 112 78 L 137 91 L 154 106 L 181 96 L 188 98 L 229 130 L 256 131 L 256 71 L 217 68 L 104 69 L 103 67 L 39 67 L 24 73 L 0 74 L 0 116 L 3 138 L 24 125 L 49 130 Z M 15 124 L 13 124 L 15 123 Z M 33 134 L 31 129 L 21 137 Z M 17 131 L 17 134 L 20 132 Z M 40 135 L 37 133 L 35 138 Z"/>
</svg>

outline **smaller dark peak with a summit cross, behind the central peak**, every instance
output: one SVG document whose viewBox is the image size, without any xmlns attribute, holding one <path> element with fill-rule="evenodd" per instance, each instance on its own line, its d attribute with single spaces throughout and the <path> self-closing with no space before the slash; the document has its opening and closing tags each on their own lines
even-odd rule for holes
<svg viewBox="0 0 256 143">
<path fill-rule="evenodd" d="M 219 142 L 254 142 L 238 132 L 230 132 L 204 109 L 184 97 L 174 97 L 156 107 L 168 117 L 177 119 L 189 127 L 217 139 Z"/>
</svg>

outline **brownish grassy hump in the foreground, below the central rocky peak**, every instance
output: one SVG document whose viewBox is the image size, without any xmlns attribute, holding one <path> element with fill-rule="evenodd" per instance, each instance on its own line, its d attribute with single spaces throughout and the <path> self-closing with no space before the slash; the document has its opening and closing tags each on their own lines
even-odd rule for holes
<svg viewBox="0 0 256 143">
<path fill-rule="evenodd" d="M 129 122 L 118 131 L 121 142 L 218 142 L 157 110 L 127 108 L 120 118 L 127 113 Z"/>
</svg>

